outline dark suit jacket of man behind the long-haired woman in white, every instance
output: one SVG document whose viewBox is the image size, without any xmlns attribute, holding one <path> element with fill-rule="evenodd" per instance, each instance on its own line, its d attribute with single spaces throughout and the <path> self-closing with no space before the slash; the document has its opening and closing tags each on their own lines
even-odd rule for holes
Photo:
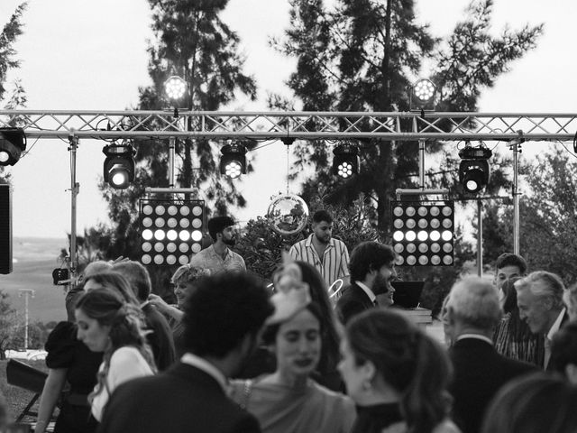
<svg viewBox="0 0 577 433">
<path fill-rule="evenodd" d="M 172 330 L 168 320 L 151 304 L 142 307 L 142 313 L 144 313 L 147 328 L 152 331 L 147 335 L 147 340 L 151 345 L 154 363 L 159 372 L 163 372 L 176 360 Z"/>
</svg>

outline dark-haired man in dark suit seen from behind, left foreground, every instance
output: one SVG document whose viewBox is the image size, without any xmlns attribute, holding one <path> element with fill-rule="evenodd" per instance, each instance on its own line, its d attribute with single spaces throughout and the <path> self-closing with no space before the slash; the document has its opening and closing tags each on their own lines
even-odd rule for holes
<svg viewBox="0 0 577 433">
<path fill-rule="evenodd" d="M 257 345 L 273 308 L 260 281 L 221 272 L 198 281 L 185 303 L 188 352 L 167 372 L 113 393 L 99 433 L 258 433 L 258 421 L 227 397 L 226 378 Z"/>
</svg>

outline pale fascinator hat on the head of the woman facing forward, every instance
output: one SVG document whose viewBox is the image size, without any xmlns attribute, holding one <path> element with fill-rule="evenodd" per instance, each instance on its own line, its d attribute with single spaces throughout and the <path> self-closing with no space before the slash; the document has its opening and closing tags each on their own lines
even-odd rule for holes
<svg viewBox="0 0 577 433">
<path fill-rule="evenodd" d="M 286 322 L 310 304 L 310 289 L 302 278 L 298 264 L 289 253 L 282 253 L 282 266 L 273 276 L 275 294 L 270 298 L 274 313 L 267 319 L 267 325 Z"/>
</svg>

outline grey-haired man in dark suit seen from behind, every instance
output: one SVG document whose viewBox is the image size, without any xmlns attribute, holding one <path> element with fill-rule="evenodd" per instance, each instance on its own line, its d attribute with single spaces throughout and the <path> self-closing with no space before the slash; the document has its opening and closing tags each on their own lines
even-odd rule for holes
<svg viewBox="0 0 577 433">
<path fill-rule="evenodd" d="M 493 396 L 509 380 L 536 367 L 499 355 L 493 347 L 493 329 L 502 311 L 491 281 L 467 277 L 454 284 L 446 305 L 453 330 L 449 350 L 453 361 L 453 419 L 463 433 L 477 433 Z"/>
</svg>

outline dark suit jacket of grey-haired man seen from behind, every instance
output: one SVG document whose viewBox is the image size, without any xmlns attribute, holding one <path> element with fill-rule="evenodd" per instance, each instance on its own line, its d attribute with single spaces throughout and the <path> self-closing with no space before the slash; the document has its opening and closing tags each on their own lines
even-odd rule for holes
<svg viewBox="0 0 577 433">
<path fill-rule="evenodd" d="M 453 361 L 453 419 L 463 433 L 477 433 L 491 399 L 511 379 L 536 371 L 536 366 L 499 355 L 478 338 L 458 340 L 449 350 Z"/>
</svg>

